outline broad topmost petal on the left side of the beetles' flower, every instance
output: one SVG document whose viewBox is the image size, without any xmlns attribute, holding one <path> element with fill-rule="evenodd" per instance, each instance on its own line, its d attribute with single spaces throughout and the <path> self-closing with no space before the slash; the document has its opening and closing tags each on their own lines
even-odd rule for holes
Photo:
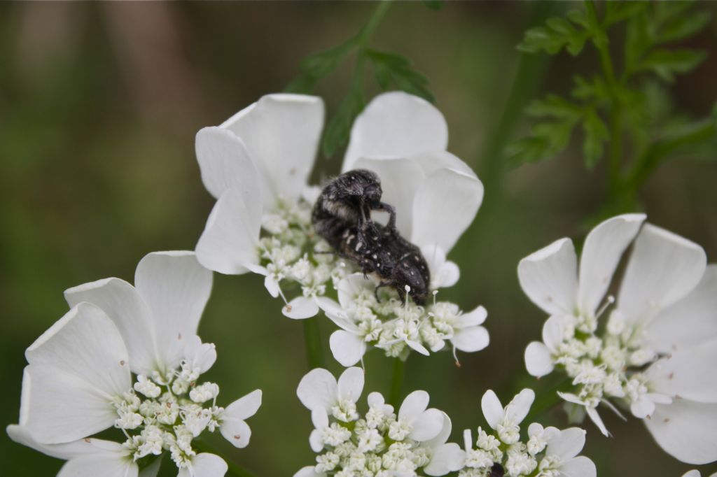
<svg viewBox="0 0 717 477">
<path fill-rule="evenodd" d="M 316 158 L 323 114 L 319 97 L 266 95 L 221 125 L 241 138 L 265 178 L 265 211 L 277 198 L 293 201 L 303 192 Z"/>
</svg>

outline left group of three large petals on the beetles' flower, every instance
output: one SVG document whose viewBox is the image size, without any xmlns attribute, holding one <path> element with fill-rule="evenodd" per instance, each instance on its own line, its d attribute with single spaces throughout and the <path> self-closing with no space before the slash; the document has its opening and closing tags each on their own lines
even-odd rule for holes
<svg viewBox="0 0 717 477">
<path fill-rule="evenodd" d="M 224 274 L 259 264 L 262 214 L 301 196 L 322 126 L 320 98 L 267 95 L 196 134 L 201 179 L 217 198 L 196 246 L 201 264 Z"/>
</svg>

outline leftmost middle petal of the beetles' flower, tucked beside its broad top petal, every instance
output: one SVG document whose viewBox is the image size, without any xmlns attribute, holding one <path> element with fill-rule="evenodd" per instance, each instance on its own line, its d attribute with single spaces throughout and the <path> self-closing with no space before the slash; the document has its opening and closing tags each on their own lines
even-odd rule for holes
<svg viewBox="0 0 717 477">
<path fill-rule="evenodd" d="M 244 194 L 244 201 L 262 203 L 262 183 L 244 142 L 223 127 L 204 127 L 194 140 L 201 181 L 214 198 L 228 188 Z M 254 213 L 261 213 L 256 208 Z M 260 220 L 261 217 L 255 217 Z"/>
</svg>

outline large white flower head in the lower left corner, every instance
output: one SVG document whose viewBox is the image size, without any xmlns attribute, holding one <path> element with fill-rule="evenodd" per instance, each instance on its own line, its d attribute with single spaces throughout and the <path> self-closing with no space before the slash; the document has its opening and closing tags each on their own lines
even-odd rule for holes
<svg viewBox="0 0 717 477">
<path fill-rule="evenodd" d="M 239 448 L 261 391 L 222 408 L 219 386 L 201 382 L 217 359 L 196 335 L 212 272 L 193 252 L 157 252 L 137 266 L 135 286 L 116 278 L 65 291 L 72 307 L 25 353 L 13 440 L 67 460 L 61 477 L 156 475 L 168 452 L 179 477 L 223 476 L 227 464 L 192 440 L 219 432 Z M 123 442 L 90 438 L 117 428 Z"/>
</svg>

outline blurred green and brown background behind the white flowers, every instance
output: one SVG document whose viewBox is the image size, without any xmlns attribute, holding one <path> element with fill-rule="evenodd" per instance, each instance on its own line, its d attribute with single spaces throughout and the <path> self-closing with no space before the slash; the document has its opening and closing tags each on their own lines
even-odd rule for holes
<svg viewBox="0 0 717 477">
<path fill-rule="evenodd" d="M 193 249 L 214 200 L 194 158 L 194 134 L 217 125 L 267 92 L 282 90 L 300 59 L 358 32 L 371 2 L 2 3 L 0 4 L 0 422 L 19 409 L 24 349 L 67 310 L 62 291 L 107 276 L 132 280 L 141 257 Z M 704 3 L 703 9 L 716 10 Z M 564 9 L 564 5 L 550 5 Z M 460 431 L 482 423 L 480 396 L 504 402 L 523 386 L 539 392 L 523 368 L 523 350 L 539 339 L 545 317 L 523 296 L 516 264 L 561 236 L 580 238 L 581 223 L 604 198 L 604 170 L 587 172 L 579 150 L 508 170 L 497 160 L 497 134 L 509 95 L 521 101 L 563 92 L 575 72 L 594 71 L 592 50 L 579 59 L 535 55 L 518 70 L 515 46 L 546 4 L 447 2 L 395 4 L 372 44 L 400 52 L 427 74 L 450 128 L 449 150 L 483 179 L 486 197 L 475 223 L 452 252 L 460 284 L 442 292 L 463 309 L 488 309 L 491 344 L 461 355 L 412 355 L 403 394 L 425 389 Z M 678 106 L 708 114 L 717 99 L 717 28 L 690 46 L 711 57 L 681 77 Z M 321 82 L 328 112 L 348 87 L 351 64 Z M 520 71 L 521 90 L 511 93 Z M 518 109 L 520 112 L 520 109 Z M 509 120 L 510 118 L 508 118 Z M 508 121 L 509 122 L 509 121 Z M 513 136 L 524 131 L 518 122 Z M 716 152 L 717 157 L 717 152 Z M 714 158 L 713 158 L 714 159 Z M 317 177 L 340 158 L 319 158 Z M 652 223 L 717 256 L 717 162 L 675 160 L 647 182 L 642 203 Z M 252 442 L 234 450 L 215 441 L 258 476 L 290 476 L 313 462 L 310 416 L 295 397 L 308 370 L 302 327 L 280 314 L 257 276 L 215 274 L 200 327 L 217 344 L 208 376 L 226 405 L 257 387 L 264 404 L 251 418 Z M 320 320 L 323 342 L 333 325 Z M 328 355 L 331 370 L 340 367 Z M 387 394 L 390 366 L 366 358 L 369 390 Z M 223 399 L 222 399 L 223 398 Z M 362 401 L 364 402 L 364 401 Z M 693 466 L 670 458 L 636 419 L 602 411 L 614 438 L 587 422 L 584 453 L 604 476 L 681 476 Z M 554 410 L 543 424 L 567 427 Z M 716 430 L 717 432 L 717 430 Z M 214 441 L 213 441 L 214 442 Z M 53 476 L 61 461 L 12 443 L 0 433 L 3 476 Z M 176 472 L 165 466 L 163 475 Z M 707 471 L 716 466 L 705 466 Z"/>
</svg>

